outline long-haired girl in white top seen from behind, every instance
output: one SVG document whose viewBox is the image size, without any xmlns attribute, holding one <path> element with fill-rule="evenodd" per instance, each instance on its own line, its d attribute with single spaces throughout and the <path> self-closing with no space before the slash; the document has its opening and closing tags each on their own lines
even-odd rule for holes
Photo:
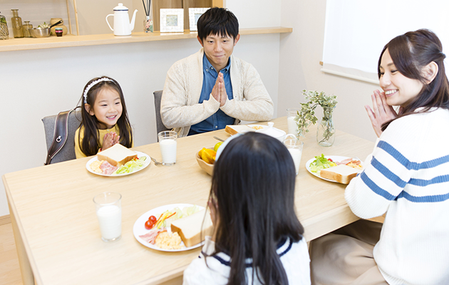
<svg viewBox="0 0 449 285">
<path fill-rule="evenodd" d="M 260 133 L 222 147 L 208 202 L 215 232 L 184 271 L 183 284 L 310 284 L 289 151 Z"/>
</svg>

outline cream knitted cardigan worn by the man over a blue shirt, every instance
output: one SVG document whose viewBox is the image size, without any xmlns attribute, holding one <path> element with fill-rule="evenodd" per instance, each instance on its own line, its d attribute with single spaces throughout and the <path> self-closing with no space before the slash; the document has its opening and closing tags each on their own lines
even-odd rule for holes
<svg viewBox="0 0 449 285">
<path fill-rule="evenodd" d="M 160 102 L 160 115 L 167 128 L 174 128 L 185 137 L 191 125 L 200 123 L 215 114 L 219 108 L 232 118 L 262 121 L 273 117 L 273 101 L 260 79 L 256 68 L 239 58 L 231 58 L 231 82 L 234 99 L 220 107 L 220 102 L 210 96 L 198 103 L 202 90 L 203 48 L 192 56 L 175 62 L 167 72 Z"/>
</svg>

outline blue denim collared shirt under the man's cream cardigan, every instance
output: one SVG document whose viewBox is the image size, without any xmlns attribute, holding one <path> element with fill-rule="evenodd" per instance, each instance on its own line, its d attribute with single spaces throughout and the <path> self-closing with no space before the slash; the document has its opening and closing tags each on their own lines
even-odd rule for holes
<svg viewBox="0 0 449 285">
<path fill-rule="evenodd" d="M 227 99 L 232 100 L 234 96 L 232 95 L 232 83 L 229 70 L 231 68 L 231 61 L 227 62 L 227 66 L 224 67 L 220 72 L 223 73 L 224 88 L 226 88 Z M 202 58 L 202 90 L 200 95 L 199 103 L 204 100 L 209 100 L 212 88 L 215 86 L 217 81 L 218 73 L 215 68 L 210 64 L 207 56 L 204 55 Z M 206 120 L 200 123 L 190 126 L 190 131 L 188 135 L 196 135 L 197 133 L 210 132 L 211 130 L 220 130 L 226 128 L 226 125 L 234 124 L 235 119 L 226 115 L 222 110 L 218 110 L 217 113 L 211 115 Z"/>
</svg>

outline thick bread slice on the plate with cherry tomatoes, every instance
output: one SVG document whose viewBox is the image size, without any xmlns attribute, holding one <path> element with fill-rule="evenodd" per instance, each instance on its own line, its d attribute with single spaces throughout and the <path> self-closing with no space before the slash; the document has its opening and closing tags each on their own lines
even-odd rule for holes
<svg viewBox="0 0 449 285">
<path fill-rule="evenodd" d="M 210 212 L 206 212 L 206 209 L 202 209 L 185 218 L 176 219 L 172 222 L 171 229 L 172 232 L 177 232 L 180 235 L 185 247 L 199 244 L 205 240 L 205 236 L 212 236 L 214 232 Z"/>
</svg>

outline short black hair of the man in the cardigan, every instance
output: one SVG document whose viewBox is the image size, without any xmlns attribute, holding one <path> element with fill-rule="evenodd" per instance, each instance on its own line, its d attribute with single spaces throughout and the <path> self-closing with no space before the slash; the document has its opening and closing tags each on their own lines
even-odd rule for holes
<svg viewBox="0 0 449 285">
<path fill-rule="evenodd" d="M 235 39 L 239 34 L 239 21 L 228 9 L 214 7 L 200 16 L 197 28 L 201 41 L 211 34 L 231 36 Z"/>
</svg>

